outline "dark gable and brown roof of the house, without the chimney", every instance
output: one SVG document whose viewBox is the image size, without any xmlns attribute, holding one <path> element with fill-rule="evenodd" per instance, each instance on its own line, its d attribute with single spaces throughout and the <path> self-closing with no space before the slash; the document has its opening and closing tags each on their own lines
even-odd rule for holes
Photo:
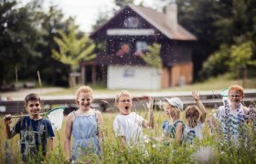
<svg viewBox="0 0 256 164">
<path fill-rule="evenodd" d="M 112 36 L 155 36 L 157 39 L 197 40 L 182 26 L 174 30 L 166 26 L 165 14 L 153 9 L 136 5 L 126 5 L 106 24 L 100 26 L 92 34 L 94 40 L 106 39 Z M 129 26 L 131 25 L 131 26 Z"/>
</svg>

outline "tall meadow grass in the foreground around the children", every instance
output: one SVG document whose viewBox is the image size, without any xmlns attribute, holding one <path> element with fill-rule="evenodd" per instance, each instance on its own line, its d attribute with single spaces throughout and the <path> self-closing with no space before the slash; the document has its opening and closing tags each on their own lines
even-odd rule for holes
<svg viewBox="0 0 256 164">
<path fill-rule="evenodd" d="M 133 109 L 135 110 L 135 109 Z M 136 113 L 147 118 L 144 109 L 137 110 Z M 81 163 L 90 159 L 91 163 L 255 163 L 256 143 L 255 128 L 249 130 L 244 136 L 249 136 L 246 147 L 238 147 L 230 143 L 223 142 L 221 135 L 209 135 L 208 124 L 205 123 L 204 139 L 197 141 L 194 145 L 177 146 L 176 144 L 166 146 L 163 142 L 147 140 L 145 142 L 147 155 L 140 148 L 132 148 L 120 152 L 120 148 L 112 131 L 112 122 L 117 113 L 102 113 L 104 119 L 104 142 L 101 144 L 103 156 L 101 159 L 95 157 L 84 157 Z M 211 109 L 208 109 L 208 116 Z M 164 111 L 155 111 L 155 128 L 144 129 L 144 135 L 149 138 L 160 137 L 162 134 L 162 122 L 165 120 Z M 182 112 L 184 120 L 184 112 Z M 250 126 L 249 126 L 250 128 Z M 62 128 L 56 132 L 54 138 L 54 151 L 45 160 L 45 163 L 64 163 L 65 153 L 64 143 L 65 119 Z M 22 163 L 18 157 L 18 136 L 6 140 L 3 122 L 0 124 L 0 163 Z"/>
</svg>

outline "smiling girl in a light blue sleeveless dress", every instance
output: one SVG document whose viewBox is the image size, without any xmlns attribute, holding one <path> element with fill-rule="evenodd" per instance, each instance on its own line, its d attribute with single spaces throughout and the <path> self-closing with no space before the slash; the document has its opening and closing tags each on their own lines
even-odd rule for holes
<svg viewBox="0 0 256 164">
<path fill-rule="evenodd" d="M 68 162 L 78 161 L 88 154 L 101 156 L 99 141 L 102 140 L 103 118 L 100 111 L 91 108 L 92 89 L 82 86 L 76 95 L 79 109 L 69 113 L 65 130 L 64 146 Z M 72 150 L 71 135 L 73 136 Z"/>
</svg>

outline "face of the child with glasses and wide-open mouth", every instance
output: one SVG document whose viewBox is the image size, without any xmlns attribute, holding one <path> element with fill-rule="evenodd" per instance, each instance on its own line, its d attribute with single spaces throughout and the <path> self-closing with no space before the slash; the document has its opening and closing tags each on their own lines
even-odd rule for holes
<svg viewBox="0 0 256 164">
<path fill-rule="evenodd" d="M 122 115 L 128 115 L 132 111 L 133 101 L 127 95 L 121 95 L 116 102 L 117 107 Z"/>
</svg>

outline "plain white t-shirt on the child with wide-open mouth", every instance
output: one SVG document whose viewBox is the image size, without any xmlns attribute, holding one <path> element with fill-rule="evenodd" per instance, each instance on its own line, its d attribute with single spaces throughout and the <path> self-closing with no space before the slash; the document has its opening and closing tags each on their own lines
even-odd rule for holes
<svg viewBox="0 0 256 164">
<path fill-rule="evenodd" d="M 117 115 L 113 120 L 113 130 L 116 137 L 125 137 L 126 144 L 132 146 L 143 142 L 144 118 L 131 112 L 128 115 Z"/>
</svg>

